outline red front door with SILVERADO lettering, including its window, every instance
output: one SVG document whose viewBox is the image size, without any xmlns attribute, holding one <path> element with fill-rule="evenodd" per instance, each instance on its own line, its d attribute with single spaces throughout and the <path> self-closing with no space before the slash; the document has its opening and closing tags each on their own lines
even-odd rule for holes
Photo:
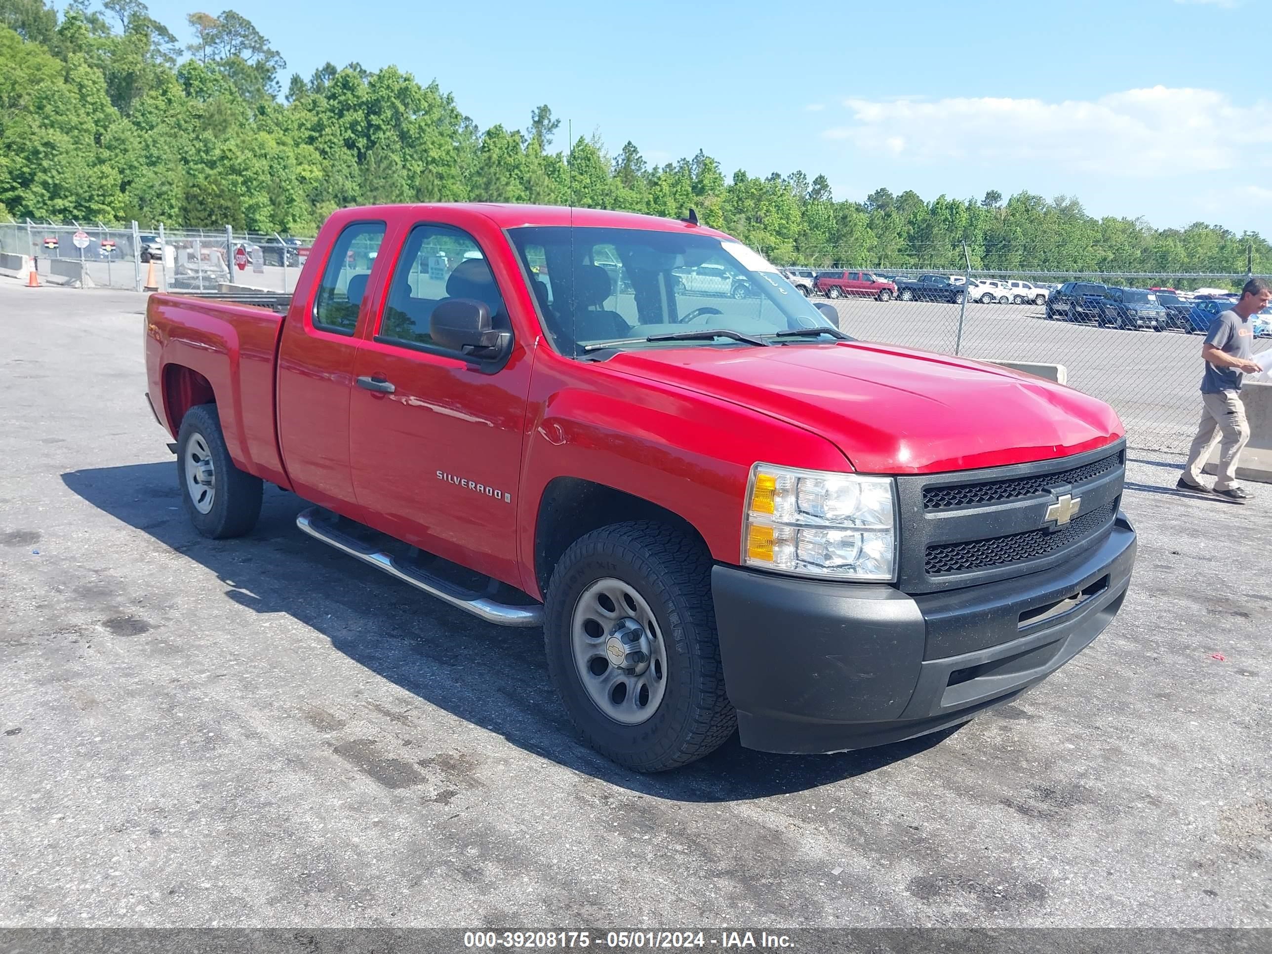
<svg viewBox="0 0 1272 954">
<path fill-rule="evenodd" d="M 354 490 L 377 529 L 520 586 L 516 494 L 530 354 L 516 342 L 508 364 L 487 374 L 435 345 L 430 318 L 448 298 L 485 301 L 496 328 L 513 327 L 477 240 L 420 223 L 357 352 Z"/>
</svg>

